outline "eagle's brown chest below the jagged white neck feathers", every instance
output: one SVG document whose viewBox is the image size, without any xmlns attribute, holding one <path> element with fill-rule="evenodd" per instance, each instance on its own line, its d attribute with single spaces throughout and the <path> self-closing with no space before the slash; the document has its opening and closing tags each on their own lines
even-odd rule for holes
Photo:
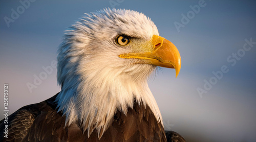
<svg viewBox="0 0 256 142">
<path fill-rule="evenodd" d="M 128 109 L 126 115 L 118 111 L 113 116 L 112 123 L 100 139 L 96 129 L 88 137 L 87 130 L 82 134 L 81 129 L 77 128 L 77 125 L 68 128 L 68 140 L 79 138 L 79 141 L 166 141 L 164 128 L 157 122 L 151 109 L 136 102 L 133 108 Z"/>
</svg>

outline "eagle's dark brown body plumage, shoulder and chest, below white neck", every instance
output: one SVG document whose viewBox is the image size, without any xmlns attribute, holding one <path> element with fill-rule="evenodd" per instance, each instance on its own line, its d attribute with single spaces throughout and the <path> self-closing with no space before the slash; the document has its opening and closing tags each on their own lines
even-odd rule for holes
<svg viewBox="0 0 256 142">
<path fill-rule="evenodd" d="M 133 108 L 129 108 L 126 116 L 117 111 L 112 124 L 100 139 L 96 130 L 88 137 L 87 130 L 83 133 L 79 123 L 65 127 L 66 116 L 57 113 L 56 96 L 20 108 L 10 115 L 8 138 L 4 137 L 5 124 L 2 120 L 0 141 L 166 141 L 164 128 L 157 122 L 151 109 L 137 102 Z M 172 137 L 172 134 L 168 137 Z"/>
</svg>

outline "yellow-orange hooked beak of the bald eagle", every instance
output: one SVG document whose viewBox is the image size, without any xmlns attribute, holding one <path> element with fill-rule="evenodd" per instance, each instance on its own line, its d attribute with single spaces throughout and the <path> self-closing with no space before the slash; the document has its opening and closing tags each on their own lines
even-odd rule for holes
<svg viewBox="0 0 256 142">
<path fill-rule="evenodd" d="M 175 68 L 177 77 L 180 72 L 181 58 L 176 46 L 169 40 L 157 35 L 152 37 L 151 44 L 153 48 L 149 48 L 150 51 L 121 54 L 119 57 L 141 59 L 138 63 Z"/>
</svg>

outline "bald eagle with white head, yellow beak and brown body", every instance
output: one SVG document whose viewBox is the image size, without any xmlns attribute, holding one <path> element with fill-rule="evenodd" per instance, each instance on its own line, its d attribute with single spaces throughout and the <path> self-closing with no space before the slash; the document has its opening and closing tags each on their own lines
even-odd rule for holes
<svg viewBox="0 0 256 142">
<path fill-rule="evenodd" d="M 147 84 L 157 66 L 177 77 L 180 54 L 144 14 L 86 14 L 66 31 L 57 60 L 61 91 L 11 114 L 8 136 L 2 120 L 0 141 L 185 141 L 165 135 Z"/>
</svg>

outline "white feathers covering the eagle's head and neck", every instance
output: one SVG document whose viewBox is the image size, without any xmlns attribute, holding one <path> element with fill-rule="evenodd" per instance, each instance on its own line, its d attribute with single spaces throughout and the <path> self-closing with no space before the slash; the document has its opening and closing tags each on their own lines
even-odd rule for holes
<svg viewBox="0 0 256 142">
<path fill-rule="evenodd" d="M 66 124 L 81 123 L 88 136 L 94 129 L 104 132 L 115 112 L 126 114 L 134 99 L 148 105 L 162 123 L 147 85 L 156 66 L 119 58 L 130 51 L 116 44 L 120 34 L 144 41 L 159 35 L 153 21 L 142 13 L 104 9 L 77 21 L 59 46 L 57 79 L 62 89 L 56 99 L 58 110 L 66 115 Z"/>
</svg>

